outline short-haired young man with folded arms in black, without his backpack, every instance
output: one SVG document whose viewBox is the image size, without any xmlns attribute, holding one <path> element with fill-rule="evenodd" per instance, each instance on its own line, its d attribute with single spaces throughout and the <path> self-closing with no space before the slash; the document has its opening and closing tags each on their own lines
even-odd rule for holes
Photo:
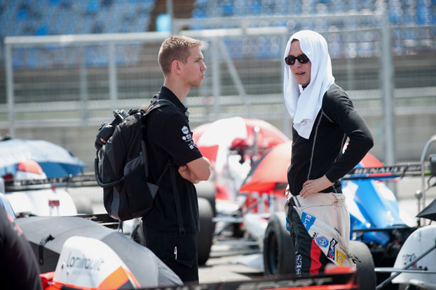
<svg viewBox="0 0 436 290">
<path fill-rule="evenodd" d="M 157 182 L 165 171 L 154 208 L 142 217 L 146 244 L 183 282 L 198 282 L 196 232 L 200 226 L 193 183 L 210 176 L 210 162 L 193 143 L 182 103 L 189 89 L 200 87 L 205 78 L 200 46 L 200 41 L 184 36 L 171 36 L 162 43 L 158 62 L 165 82 L 154 99 L 172 104 L 151 111 L 146 121 L 151 181 Z"/>
</svg>

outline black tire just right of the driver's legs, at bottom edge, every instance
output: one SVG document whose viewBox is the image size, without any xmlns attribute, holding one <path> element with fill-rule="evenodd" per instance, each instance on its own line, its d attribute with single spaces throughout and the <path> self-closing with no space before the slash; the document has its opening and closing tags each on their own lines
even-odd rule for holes
<svg viewBox="0 0 436 290">
<path fill-rule="evenodd" d="M 350 253 L 360 260 L 356 262 L 359 289 L 376 289 L 374 260 L 367 245 L 357 240 L 350 240 Z"/>
</svg>

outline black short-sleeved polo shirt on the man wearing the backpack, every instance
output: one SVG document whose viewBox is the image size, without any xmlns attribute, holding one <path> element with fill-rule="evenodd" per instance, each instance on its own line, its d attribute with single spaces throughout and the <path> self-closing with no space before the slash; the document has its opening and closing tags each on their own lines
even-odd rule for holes
<svg viewBox="0 0 436 290">
<path fill-rule="evenodd" d="M 166 99 L 175 106 L 163 106 L 147 115 L 149 179 L 151 182 L 156 182 L 169 159 L 175 163 L 184 228 L 186 233 L 195 233 L 200 230 L 196 188 L 192 182 L 179 175 L 177 168 L 203 156 L 193 143 L 189 119 L 185 114 L 186 108 L 183 103 L 167 87 L 161 87 L 161 91 L 155 97 Z M 179 231 L 170 171 L 163 176 L 154 198 L 154 207 L 142 218 L 142 221 L 146 227 L 158 231 Z"/>
</svg>

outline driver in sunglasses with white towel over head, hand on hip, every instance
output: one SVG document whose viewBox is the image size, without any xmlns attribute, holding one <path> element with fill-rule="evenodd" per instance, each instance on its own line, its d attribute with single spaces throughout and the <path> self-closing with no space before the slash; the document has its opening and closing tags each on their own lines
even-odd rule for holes
<svg viewBox="0 0 436 290">
<path fill-rule="evenodd" d="M 354 266 L 348 251 L 350 217 L 339 179 L 374 145 L 372 135 L 347 94 L 334 84 L 327 42 L 320 34 L 306 30 L 292 35 L 285 63 L 285 104 L 293 117 L 286 212 L 296 273 L 317 275 L 327 263 Z"/>
</svg>

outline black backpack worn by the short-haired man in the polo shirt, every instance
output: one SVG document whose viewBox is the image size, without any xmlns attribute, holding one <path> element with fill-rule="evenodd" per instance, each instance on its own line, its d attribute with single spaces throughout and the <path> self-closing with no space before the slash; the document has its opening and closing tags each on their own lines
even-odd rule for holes
<svg viewBox="0 0 436 290">
<path fill-rule="evenodd" d="M 114 110 L 115 119 L 100 127 L 95 148 L 95 179 L 103 187 L 103 203 L 107 213 L 121 221 L 142 217 L 153 206 L 153 200 L 165 166 L 156 184 L 148 182 L 149 162 L 147 146 L 142 133 L 144 117 L 156 108 L 170 105 L 170 101 L 152 101 L 147 112 L 143 110 Z"/>
</svg>

